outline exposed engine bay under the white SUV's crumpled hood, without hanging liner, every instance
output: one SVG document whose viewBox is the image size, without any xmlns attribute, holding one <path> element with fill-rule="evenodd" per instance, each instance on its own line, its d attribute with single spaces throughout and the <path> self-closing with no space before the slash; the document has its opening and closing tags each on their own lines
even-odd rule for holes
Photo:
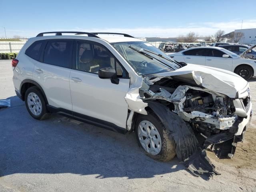
<svg viewBox="0 0 256 192">
<path fill-rule="evenodd" d="M 205 138 L 230 129 L 237 118 L 233 100 L 228 96 L 168 78 L 159 80 L 148 89 L 142 87 L 140 95 L 142 100 L 167 101 L 170 110 Z"/>
</svg>

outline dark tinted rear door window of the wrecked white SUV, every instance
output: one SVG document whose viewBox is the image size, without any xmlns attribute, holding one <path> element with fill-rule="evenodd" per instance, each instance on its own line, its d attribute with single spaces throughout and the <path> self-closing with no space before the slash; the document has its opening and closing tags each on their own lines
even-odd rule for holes
<svg viewBox="0 0 256 192">
<path fill-rule="evenodd" d="M 72 67 L 72 40 L 50 40 L 44 50 L 46 64 L 71 68 Z"/>
</svg>

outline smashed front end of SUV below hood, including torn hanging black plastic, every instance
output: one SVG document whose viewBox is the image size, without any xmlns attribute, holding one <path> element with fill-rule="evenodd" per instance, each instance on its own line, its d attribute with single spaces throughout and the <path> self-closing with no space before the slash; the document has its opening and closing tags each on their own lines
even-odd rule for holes
<svg viewBox="0 0 256 192">
<path fill-rule="evenodd" d="M 155 111 L 158 110 L 159 117 L 164 118 L 168 113 L 159 110 L 161 105 L 176 113 L 188 124 L 186 131 L 173 130 L 171 127 L 169 130 L 174 133 L 172 137 L 176 145 L 177 142 L 180 145 L 180 141 L 184 140 L 181 146 L 176 148 L 176 154 L 194 175 L 206 172 L 218 174 L 205 150 L 212 150 L 218 158 L 231 158 L 236 143 L 242 141 L 242 133 L 246 127 L 241 130 L 238 125 L 244 118 L 248 118 L 250 95 L 244 98 L 230 98 L 175 77 L 144 77 L 139 95 L 143 103 L 148 103 Z M 131 121 L 129 117 L 127 123 Z M 170 120 L 166 118 L 164 121 Z M 191 128 L 193 133 L 190 132 Z M 186 151 L 190 152 L 186 154 Z"/>
</svg>

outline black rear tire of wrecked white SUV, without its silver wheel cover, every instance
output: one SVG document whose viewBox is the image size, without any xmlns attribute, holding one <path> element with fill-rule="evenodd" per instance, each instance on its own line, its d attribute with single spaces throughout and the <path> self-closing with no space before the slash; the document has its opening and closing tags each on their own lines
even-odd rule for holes
<svg viewBox="0 0 256 192">
<path fill-rule="evenodd" d="M 29 106 L 28 106 L 28 95 L 29 95 L 30 93 L 35 93 L 35 94 L 39 97 L 39 99 L 40 99 L 40 101 L 41 101 L 41 104 L 42 104 L 42 111 L 41 111 L 41 113 L 40 113 L 39 115 L 33 114 L 33 113 L 30 111 L 30 109 L 29 109 Z M 49 117 L 49 114 L 47 113 L 46 102 L 45 102 L 44 96 L 42 95 L 42 92 L 40 91 L 40 89 L 39 89 L 38 87 L 32 86 L 32 87 L 30 87 L 30 88 L 28 88 L 28 89 L 26 90 L 26 93 L 25 93 L 25 104 L 26 104 L 26 108 L 27 108 L 27 110 L 28 110 L 28 113 L 29 113 L 33 118 L 35 118 L 35 119 L 37 119 L 37 120 L 44 120 L 44 119 L 46 119 L 46 118 Z"/>
</svg>

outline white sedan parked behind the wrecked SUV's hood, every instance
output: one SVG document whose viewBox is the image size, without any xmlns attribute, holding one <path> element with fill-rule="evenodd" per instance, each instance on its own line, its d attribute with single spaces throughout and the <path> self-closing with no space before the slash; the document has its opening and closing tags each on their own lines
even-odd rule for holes
<svg viewBox="0 0 256 192">
<path fill-rule="evenodd" d="M 220 47 L 189 48 L 170 55 L 178 62 L 198 64 L 232 71 L 248 80 L 256 76 L 256 60 L 240 57 Z"/>
</svg>

